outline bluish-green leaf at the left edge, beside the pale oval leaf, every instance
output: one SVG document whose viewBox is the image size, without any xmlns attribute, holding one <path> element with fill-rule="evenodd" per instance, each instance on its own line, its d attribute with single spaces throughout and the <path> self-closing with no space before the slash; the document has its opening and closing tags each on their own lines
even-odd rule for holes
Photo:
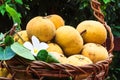
<svg viewBox="0 0 120 80">
<path fill-rule="evenodd" d="M 5 49 L 0 47 L 0 60 L 9 60 L 15 56 L 15 53 L 11 50 L 10 46 L 6 46 Z"/>
</svg>

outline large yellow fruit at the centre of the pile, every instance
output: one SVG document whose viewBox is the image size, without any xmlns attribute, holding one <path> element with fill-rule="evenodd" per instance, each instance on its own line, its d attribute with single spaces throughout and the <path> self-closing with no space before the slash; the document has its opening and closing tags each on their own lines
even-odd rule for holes
<svg viewBox="0 0 120 80">
<path fill-rule="evenodd" d="M 56 30 L 55 42 L 59 44 L 66 56 L 79 54 L 83 47 L 83 39 L 72 26 L 62 26 Z"/>
</svg>

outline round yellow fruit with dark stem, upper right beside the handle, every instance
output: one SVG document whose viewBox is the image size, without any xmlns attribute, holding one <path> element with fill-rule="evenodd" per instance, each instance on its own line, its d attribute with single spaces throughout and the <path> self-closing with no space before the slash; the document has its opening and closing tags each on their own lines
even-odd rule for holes
<svg viewBox="0 0 120 80">
<path fill-rule="evenodd" d="M 107 38 L 107 31 L 104 25 L 98 21 L 85 20 L 79 23 L 76 29 L 82 33 L 82 37 L 85 43 L 99 43 L 103 44 Z"/>
</svg>

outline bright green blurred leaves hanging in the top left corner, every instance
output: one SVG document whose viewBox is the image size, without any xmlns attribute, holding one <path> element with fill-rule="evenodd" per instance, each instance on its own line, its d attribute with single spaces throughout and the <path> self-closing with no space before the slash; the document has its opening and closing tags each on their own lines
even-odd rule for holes
<svg viewBox="0 0 120 80">
<path fill-rule="evenodd" d="M 12 18 L 13 24 L 18 23 L 18 29 L 20 29 L 21 24 L 21 13 L 17 12 L 17 5 L 22 5 L 22 0 L 1 0 L 0 1 L 0 13 L 2 16 L 7 14 L 9 18 Z"/>
</svg>

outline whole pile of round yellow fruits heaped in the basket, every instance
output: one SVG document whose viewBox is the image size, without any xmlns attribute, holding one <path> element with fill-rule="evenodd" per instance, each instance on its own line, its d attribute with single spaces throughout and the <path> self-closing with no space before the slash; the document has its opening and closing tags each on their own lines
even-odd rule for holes
<svg viewBox="0 0 120 80">
<path fill-rule="evenodd" d="M 47 43 L 49 47 L 46 50 L 61 64 L 83 66 L 108 58 L 108 51 L 103 46 L 107 31 L 103 24 L 95 20 L 70 26 L 65 25 L 64 19 L 57 14 L 37 16 L 27 23 L 26 30 L 17 34 L 20 37 L 15 34 L 14 40 L 20 44 L 31 42 L 33 35 L 40 42 Z"/>
</svg>

